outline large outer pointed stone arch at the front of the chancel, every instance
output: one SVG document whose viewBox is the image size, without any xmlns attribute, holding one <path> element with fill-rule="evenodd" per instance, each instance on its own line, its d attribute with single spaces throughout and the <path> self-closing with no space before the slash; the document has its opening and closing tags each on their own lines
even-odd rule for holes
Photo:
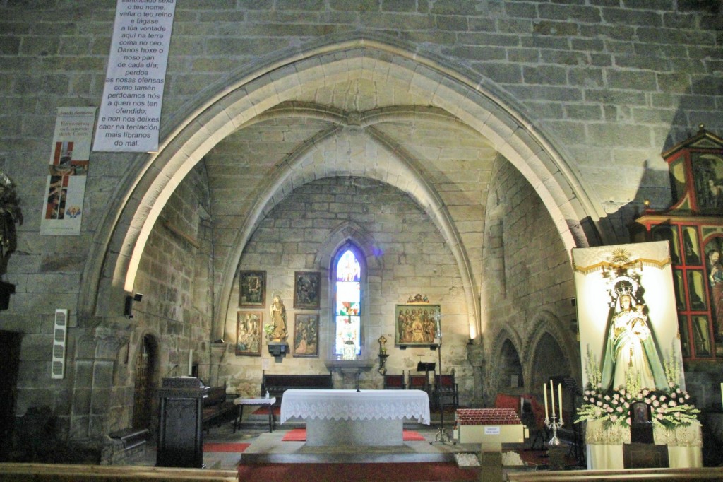
<svg viewBox="0 0 723 482">
<path fill-rule="evenodd" d="M 584 219 L 598 222 L 599 213 L 549 138 L 523 118 L 523 109 L 508 94 L 500 88 L 490 90 L 486 80 L 485 85 L 472 80 L 479 79 L 479 74 L 431 51 L 419 53 L 416 46 L 394 39 L 346 35 L 322 38 L 303 51 L 281 51 L 266 64 L 237 72 L 200 93 L 192 105 L 171 118 L 170 125 L 163 125 L 158 154 L 136 158 L 96 232 L 82 278 L 81 313 L 103 316 L 122 306 L 161 209 L 214 145 L 260 114 L 293 101 L 303 89 L 362 76 L 424 93 L 429 103 L 489 139 L 531 182 L 568 251 L 589 244 L 579 225 Z M 277 197 L 285 192 L 278 191 Z M 223 290 L 216 292 L 218 302 Z M 217 320 L 219 315 L 217 309 Z"/>
</svg>

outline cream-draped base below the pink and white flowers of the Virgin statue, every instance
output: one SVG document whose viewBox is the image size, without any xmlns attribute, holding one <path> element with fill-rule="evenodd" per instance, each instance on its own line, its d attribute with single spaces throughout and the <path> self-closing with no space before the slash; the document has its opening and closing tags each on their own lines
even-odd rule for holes
<svg viewBox="0 0 723 482">
<path fill-rule="evenodd" d="M 655 426 L 655 444 L 667 446 L 670 468 L 703 467 L 703 436 L 701 423 L 673 430 Z M 601 420 L 588 420 L 585 431 L 589 469 L 623 469 L 623 444 L 630 444 L 630 429 L 621 426 L 604 428 Z"/>
</svg>

